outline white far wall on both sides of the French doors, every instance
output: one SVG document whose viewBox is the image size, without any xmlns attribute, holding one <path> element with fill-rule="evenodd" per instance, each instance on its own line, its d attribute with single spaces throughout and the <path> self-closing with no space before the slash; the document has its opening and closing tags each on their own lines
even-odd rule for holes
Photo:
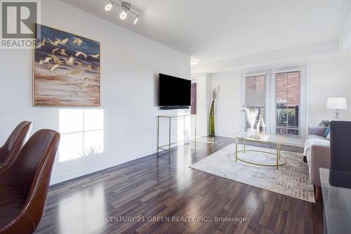
<svg viewBox="0 0 351 234">
<path fill-rule="evenodd" d="M 270 67 L 279 65 L 268 65 L 265 68 Z M 311 60 L 306 63 L 306 67 L 307 126 L 317 126 L 322 119 L 333 119 L 335 110 L 326 110 L 326 98 L 332 96 L 347 98 L 349 109 L 340 110 L 340 116 L 343 120 L 351 120 L 351 56 Z M 244 71 L 233 70 L 211 74 L 211 89 L 220 86 L 215 112 L 217 136 L 232 137 L 240 131 L 242 72 Z"/>
</svg>

